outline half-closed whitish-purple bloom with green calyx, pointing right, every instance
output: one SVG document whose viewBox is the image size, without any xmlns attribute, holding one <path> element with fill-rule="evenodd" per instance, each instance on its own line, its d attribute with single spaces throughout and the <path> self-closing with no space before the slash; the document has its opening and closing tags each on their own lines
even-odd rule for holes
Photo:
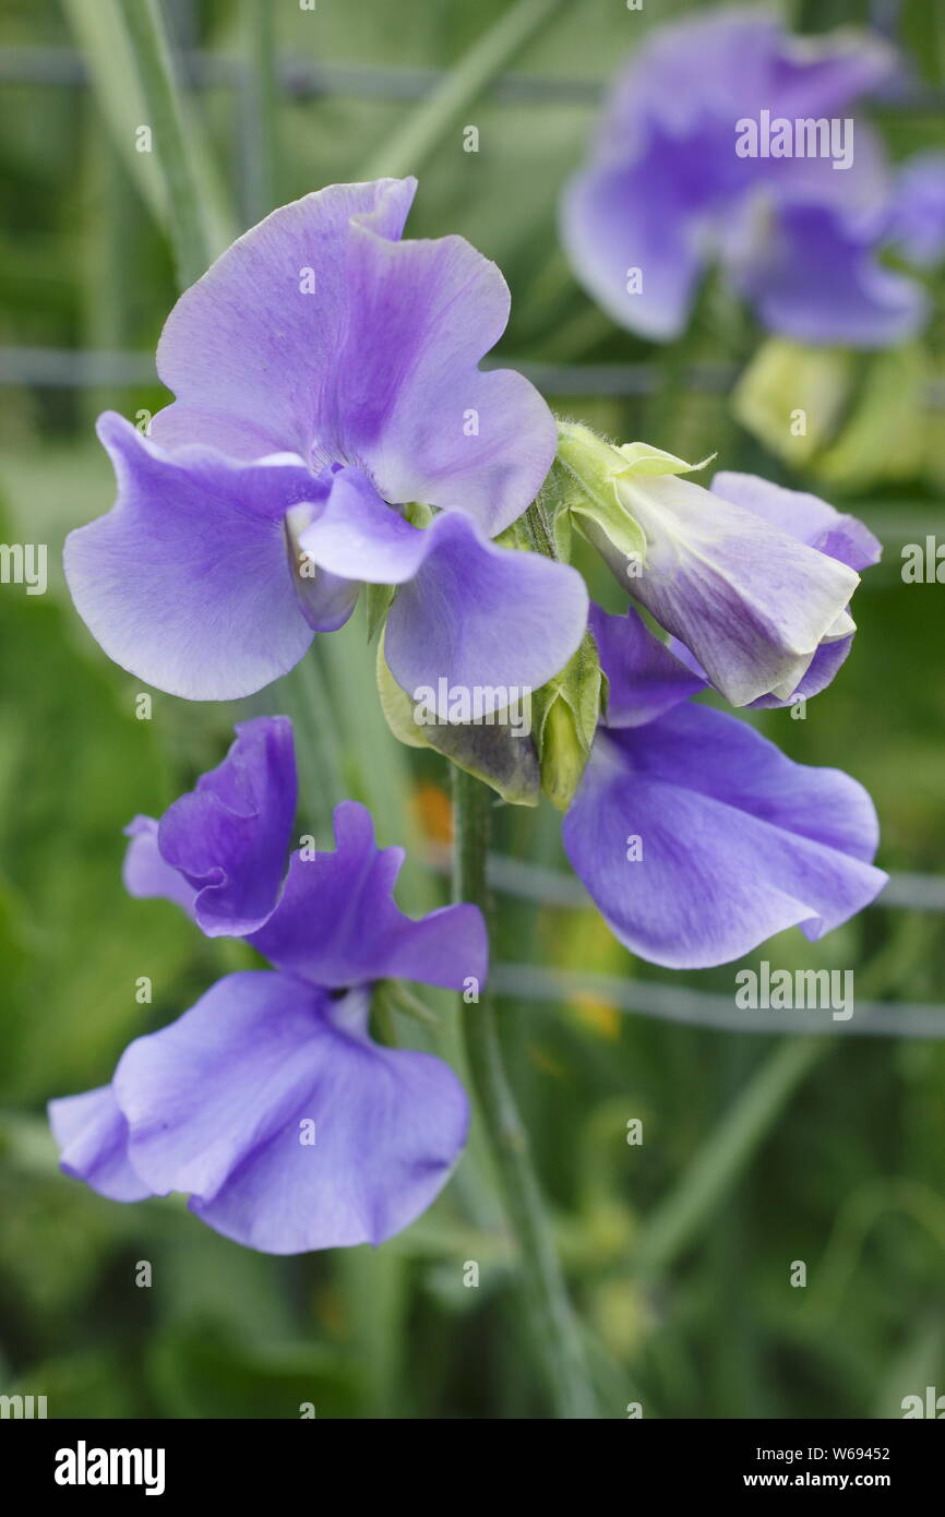
<svg viewBox="0 0 945 1517">
<path fill-rule="evenodd" d="M 711 490 L 645 443 L 613 448 L 561 423 L 572 505 L 620 586 L 733 705 L 783 704 L 830 683 L 856 631 L 848 605 L 880 545 L 825 501 L 746 475 Z"/>
</svg>

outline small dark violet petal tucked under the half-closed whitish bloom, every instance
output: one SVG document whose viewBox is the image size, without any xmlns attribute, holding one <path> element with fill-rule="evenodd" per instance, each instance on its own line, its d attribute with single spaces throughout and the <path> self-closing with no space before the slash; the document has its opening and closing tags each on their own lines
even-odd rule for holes
<svg viewBox="0 0 945 1517">
<path fill-rule="evenodd" d="M 633 607 L 608 616 L 592 602 L 589 627 L 608 680 L 608 727 L 640 727 L 705 689 Z"/>
</svg>

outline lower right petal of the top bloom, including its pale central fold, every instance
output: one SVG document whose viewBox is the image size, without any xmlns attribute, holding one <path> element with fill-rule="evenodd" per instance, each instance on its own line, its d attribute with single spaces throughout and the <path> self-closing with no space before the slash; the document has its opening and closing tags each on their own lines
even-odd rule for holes
<svg viewBox="0 0 945 1517">
<path fill-rule="evenodd" d="M 432 690 L 425 699 L 443 718 L 441 689 L 475 693 L 475 708 L 490 715 L 558 674 L 584 636 L 587 590 L 575 569 L 499 548 L 457 511 L 411 526 L 356 470 L 335 475 L 299 543 L 332 573 L 400 586 L 387 663 L 408 695 Z"/>
</svg>

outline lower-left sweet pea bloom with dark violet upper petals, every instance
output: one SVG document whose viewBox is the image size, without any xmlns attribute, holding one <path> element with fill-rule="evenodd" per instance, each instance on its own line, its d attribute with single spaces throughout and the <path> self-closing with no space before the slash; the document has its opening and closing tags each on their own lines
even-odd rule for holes
<svg viewBox="0 0 945 1517">
<path fill-rule="evenodd" d="M 466 1094 L 440 1059 L 373 1042 L 372 986 L 487 971 L 475 906 L 400 913 L 403 851 L 378 850 L 353 801 L 334 853 L 294 853 L 282 878 L 293 812 L 290 724 L 259 718 L 161 822 L 132 824 L 130 892 L 205 931 L 229 922 L 273 968 L 226 975 L 135 1039 L 111 1085 L 50 1101 L 67 1174 L 117 1201 L 181 1191 L 264 1253 L 378 1244 L 429 1206 L 466 1141 Z"/>
</svg>

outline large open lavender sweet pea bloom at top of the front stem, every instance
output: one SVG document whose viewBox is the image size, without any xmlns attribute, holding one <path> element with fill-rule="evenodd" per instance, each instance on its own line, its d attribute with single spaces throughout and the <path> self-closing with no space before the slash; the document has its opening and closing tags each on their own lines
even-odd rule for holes
<svg viewBox="0 0 945 1517">
<path fill-rule="evenodd" d="M 581 576 L 496 546 L 535 496 L 552 416 L 479 370 L 502 275 L 461 237 L 402 241 L 414 179 L 275 211 L 177 300 L 158 347 L 176 400 L 150 435 L 99 422 L 118 499 L 65 575 L 102 648 L 190 699 L 250 695 L 396 598 L 387 661 L 420 686 L 540 687 L 587 622 Z"/>
</svg>

